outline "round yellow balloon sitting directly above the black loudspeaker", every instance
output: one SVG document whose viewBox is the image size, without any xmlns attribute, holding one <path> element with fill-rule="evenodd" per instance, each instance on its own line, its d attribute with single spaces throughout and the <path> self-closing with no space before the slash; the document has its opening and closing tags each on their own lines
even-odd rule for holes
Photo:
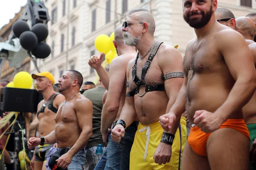
<svg viewBox="0 0 256 170">
<path fill-rule="evenodd" d="M 31 88 L 33 83 L 31 75 L 26 71 L 18 72 L 13 78 L 15 88 Z"/>
</svg>

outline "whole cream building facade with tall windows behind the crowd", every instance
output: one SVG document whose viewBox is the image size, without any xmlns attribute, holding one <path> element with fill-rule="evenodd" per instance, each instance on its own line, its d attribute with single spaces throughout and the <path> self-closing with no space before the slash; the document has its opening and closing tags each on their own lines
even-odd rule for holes
<svg viewBox="0 0 256 170">
<path fill-rule="evenodd" d="M 148 8 L 156 22 L 155 39 L 179 45 L 177 49 L 183 56 L 187 43 L 195 37 L 193 28 L 183 20 L 182 0 L 47 0 L 45 4 L 51 19 L 47 43 L 52 54 L 40 59 L 38 65 L 52 72 L 55 81 L 68 69 L 80 71 L 84 81 L 94 81 L 95 72 L 87 62 L 93 54 L 100 54 L 94 46 L 95 38 L 99 34 L 109 36 L 134 8 Z M 241 17 L 254 12 L 256 2 L 218 0 L 218 8 L 228 8 Z"/>
</svg>

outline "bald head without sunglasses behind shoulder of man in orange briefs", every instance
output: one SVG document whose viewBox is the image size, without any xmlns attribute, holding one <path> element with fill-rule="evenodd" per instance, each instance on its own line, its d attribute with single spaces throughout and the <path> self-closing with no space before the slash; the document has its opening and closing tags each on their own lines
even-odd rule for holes
<svg viewBox="0 0 256 170">
<path fill-rule="evenodd" d="M 255 24 L 249 17 L 239 17 L 236 19 L 236 28 L 245 39 L 253 40 L 255 35 Z"/>
</svg>

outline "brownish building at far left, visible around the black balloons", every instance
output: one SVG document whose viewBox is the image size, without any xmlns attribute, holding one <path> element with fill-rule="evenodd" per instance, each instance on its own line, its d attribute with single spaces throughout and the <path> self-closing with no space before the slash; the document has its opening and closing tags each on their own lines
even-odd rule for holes
<svg viewBox="0 0 256 170">
<path fill-rule="evenodd" d="M 20 17 L 20 14 L 22 13 L 23 7 L 20 8 L 20 11 L 15 14 L 15 17 L 9 21 L 5 26 L 3 26 L 0 29 L 0 42 L 5 42 L 8 40 L 9 34 L 12 31 L 12 24 L 15 23 L 15 21 L 18 20 Z M 14 69 L 12 67 L 9 67 L 9 61 L 5 61 L 1 63 L 2 68 L 1 68 L 1 74 L 0 74 L 0 79 L 1 80 L 8 80 L 11 82 L 13 80 L 13 77 L 15 74 L 19 71 L 30 71 L 30 57 L 27 57 L 24 59 L 22 62 L 22 65 L 20 68 Z"/>
</svg>

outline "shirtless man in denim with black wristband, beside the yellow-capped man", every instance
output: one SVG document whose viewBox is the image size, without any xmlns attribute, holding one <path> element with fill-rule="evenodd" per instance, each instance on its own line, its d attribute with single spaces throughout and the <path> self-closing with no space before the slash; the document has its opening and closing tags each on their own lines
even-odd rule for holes
<svg viewBox="0 0 256 170">
<path fill-rule="evenodd" d="M 55 130 L 40 138 L 30 138 L 28 147 L 38 144 L 58 144 L 51 148 L 47 157 L 49 168 L 62 167 L 68 170 L 82 170 L 85 146 L 92 136 L 92 102 L 79 93 L 83 77 L 78 71 L 66 71 L 58 80 L 59 91 L 66 98 L 55 116 Z"/>
</svg>

